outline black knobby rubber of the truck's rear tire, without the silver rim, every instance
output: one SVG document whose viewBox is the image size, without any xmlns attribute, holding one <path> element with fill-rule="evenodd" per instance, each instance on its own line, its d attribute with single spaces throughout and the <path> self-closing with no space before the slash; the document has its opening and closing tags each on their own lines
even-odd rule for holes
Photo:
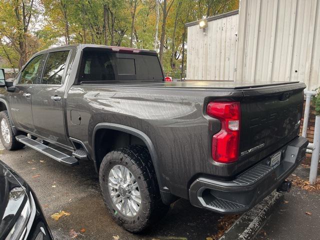
<svg viewBox="0 0 320 240">
<path fill-rule="evenodd" d="M 114 165 L 123 165 L 135 177 L 141 194 L 141 204 L 134 216 L 126 216 L 117 210 L 108 190 L 108 175 Z M 107 153 L 101 162 L 99 182 L 102 196 L 112 218 L 124 229 L 141 232 L 165 215 L 169 206 L 163 204 L 154 167 L 146 147 L 130 145 Z"/>
</svg>

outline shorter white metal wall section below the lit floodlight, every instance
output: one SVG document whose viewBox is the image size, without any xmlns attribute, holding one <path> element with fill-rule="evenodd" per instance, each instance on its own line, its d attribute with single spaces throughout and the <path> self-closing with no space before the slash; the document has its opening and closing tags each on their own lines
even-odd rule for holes
<svg viewBox="0 0 320 240">
<path fill-rule="evenodd" d="M 187 27 L 187 79 L 234 79 L 237 20 L 237 14 L 209 20 L 206 35 L 197 24 Z"/>
</svg>

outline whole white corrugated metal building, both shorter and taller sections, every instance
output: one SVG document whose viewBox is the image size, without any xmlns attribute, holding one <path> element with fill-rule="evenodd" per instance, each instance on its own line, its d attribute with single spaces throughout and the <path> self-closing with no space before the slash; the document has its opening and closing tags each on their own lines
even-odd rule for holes
<svg viewBox="0 0 320 240">
<path fill-rule="evenodd" d="M 239 11 L 187 23 L 187 79 L 320 86 L 320 0 L 240 0 Z"/>
</svg>

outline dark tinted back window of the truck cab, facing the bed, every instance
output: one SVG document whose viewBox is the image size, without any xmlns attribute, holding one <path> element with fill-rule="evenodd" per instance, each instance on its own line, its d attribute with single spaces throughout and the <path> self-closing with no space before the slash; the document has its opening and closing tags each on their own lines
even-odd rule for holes
<svg viewBox="0 0 320 240">
<path fill-rule="evenodd" d="M 83 50 L 80 83 L 162 80 L 161 66 L 155 55 Z"/>
</svg>

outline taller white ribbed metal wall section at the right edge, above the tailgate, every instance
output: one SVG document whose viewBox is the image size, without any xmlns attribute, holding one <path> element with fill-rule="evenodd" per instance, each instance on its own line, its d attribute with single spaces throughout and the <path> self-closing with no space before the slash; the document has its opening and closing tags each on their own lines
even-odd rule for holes
<svg viewBox="0 0 320 240">
<path fill-rule="evenodd" d="M 320 83 L 320 0 L 241 0 L 236 80 Z"/>
</svg>

